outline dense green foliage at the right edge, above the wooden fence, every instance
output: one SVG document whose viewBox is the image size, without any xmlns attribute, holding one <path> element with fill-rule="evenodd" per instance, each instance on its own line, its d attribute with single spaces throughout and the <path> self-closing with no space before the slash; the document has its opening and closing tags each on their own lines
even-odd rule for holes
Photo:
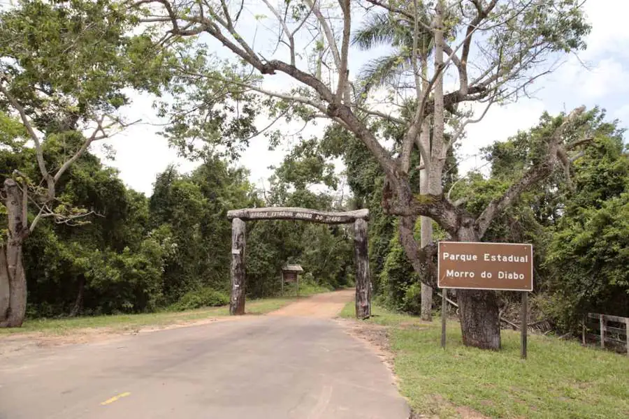
<svg viewBox="0 0 629 419">
<path fill-rule="evenodd" d="M 574 184 L 544 261 L 546 310 L 567 330 L 588 312 L 629 316 L 629 156 L 621 138 L 598 138 Z"/>
</svg>

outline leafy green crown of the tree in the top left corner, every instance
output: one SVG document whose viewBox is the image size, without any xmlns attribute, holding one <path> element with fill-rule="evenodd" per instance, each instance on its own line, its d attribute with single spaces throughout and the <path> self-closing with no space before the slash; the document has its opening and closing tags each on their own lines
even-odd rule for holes
<svg viewBox="0 0 629 419">
<path fill-rule="evenodd" d="M 22 0 L 0 21 L 3 81 L 44 133 L 117 110 L 126 88 L 159 93 L 169 78 L 166 52 L 130 35 L 137 17 L 120 2 Z"/>
</svg>

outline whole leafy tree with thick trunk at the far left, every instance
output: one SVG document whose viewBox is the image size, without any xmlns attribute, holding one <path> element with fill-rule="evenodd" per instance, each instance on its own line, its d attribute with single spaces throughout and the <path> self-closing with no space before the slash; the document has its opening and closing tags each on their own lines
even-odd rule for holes
<svg viewBox="0 0 629 419">
<path fill-rule="evenodd" d="M 0 14 L 0 112 L 19 121 L 9 131 L 10 146 L 31 147 L 18 137 L 31 141 L 32 152 L 21 156 L 38 168 L 14 171 L 1 190 L 7 226 L 0 244 L 0 327 L 24 321 L 24 240 L 42 219 L 72 225 L 90 214 L 63 203 L 59 183 L 93 142 L 126 126 L 117 116 L 129 101 L 124 89 L 157 92 L 167 78 L 150 36 L 127 35 L 136 23 L 108 0 L 23 0 Z"/>
</svg>

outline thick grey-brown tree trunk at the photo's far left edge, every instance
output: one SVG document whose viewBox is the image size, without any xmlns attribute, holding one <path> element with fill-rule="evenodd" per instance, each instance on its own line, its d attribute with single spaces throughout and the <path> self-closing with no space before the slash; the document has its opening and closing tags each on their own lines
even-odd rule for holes
<svg viewBox="0 0 629 419">
<path fill-rule="evenodd" d="M 26 223 L 22 191 L 13 179 L 4 181 L 4 205 L 8 233 L 0 246 L 0 328 L 19 328 L 24 323 L 27 281 L 22 265 L 22 242 Z"/>
</svg>

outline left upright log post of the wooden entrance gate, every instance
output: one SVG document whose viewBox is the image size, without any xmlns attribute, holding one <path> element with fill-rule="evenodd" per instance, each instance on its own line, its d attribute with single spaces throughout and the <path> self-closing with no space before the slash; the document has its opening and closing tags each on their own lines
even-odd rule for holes
<svg viewBox="0 0 629 419">
<path fill-rule="evenodd" d="M 229 314 L 245 314 L 245 242 L 247 227 L 245 221 L 235 218 L 231 221 L 231 297 Z"/>
</svg>

